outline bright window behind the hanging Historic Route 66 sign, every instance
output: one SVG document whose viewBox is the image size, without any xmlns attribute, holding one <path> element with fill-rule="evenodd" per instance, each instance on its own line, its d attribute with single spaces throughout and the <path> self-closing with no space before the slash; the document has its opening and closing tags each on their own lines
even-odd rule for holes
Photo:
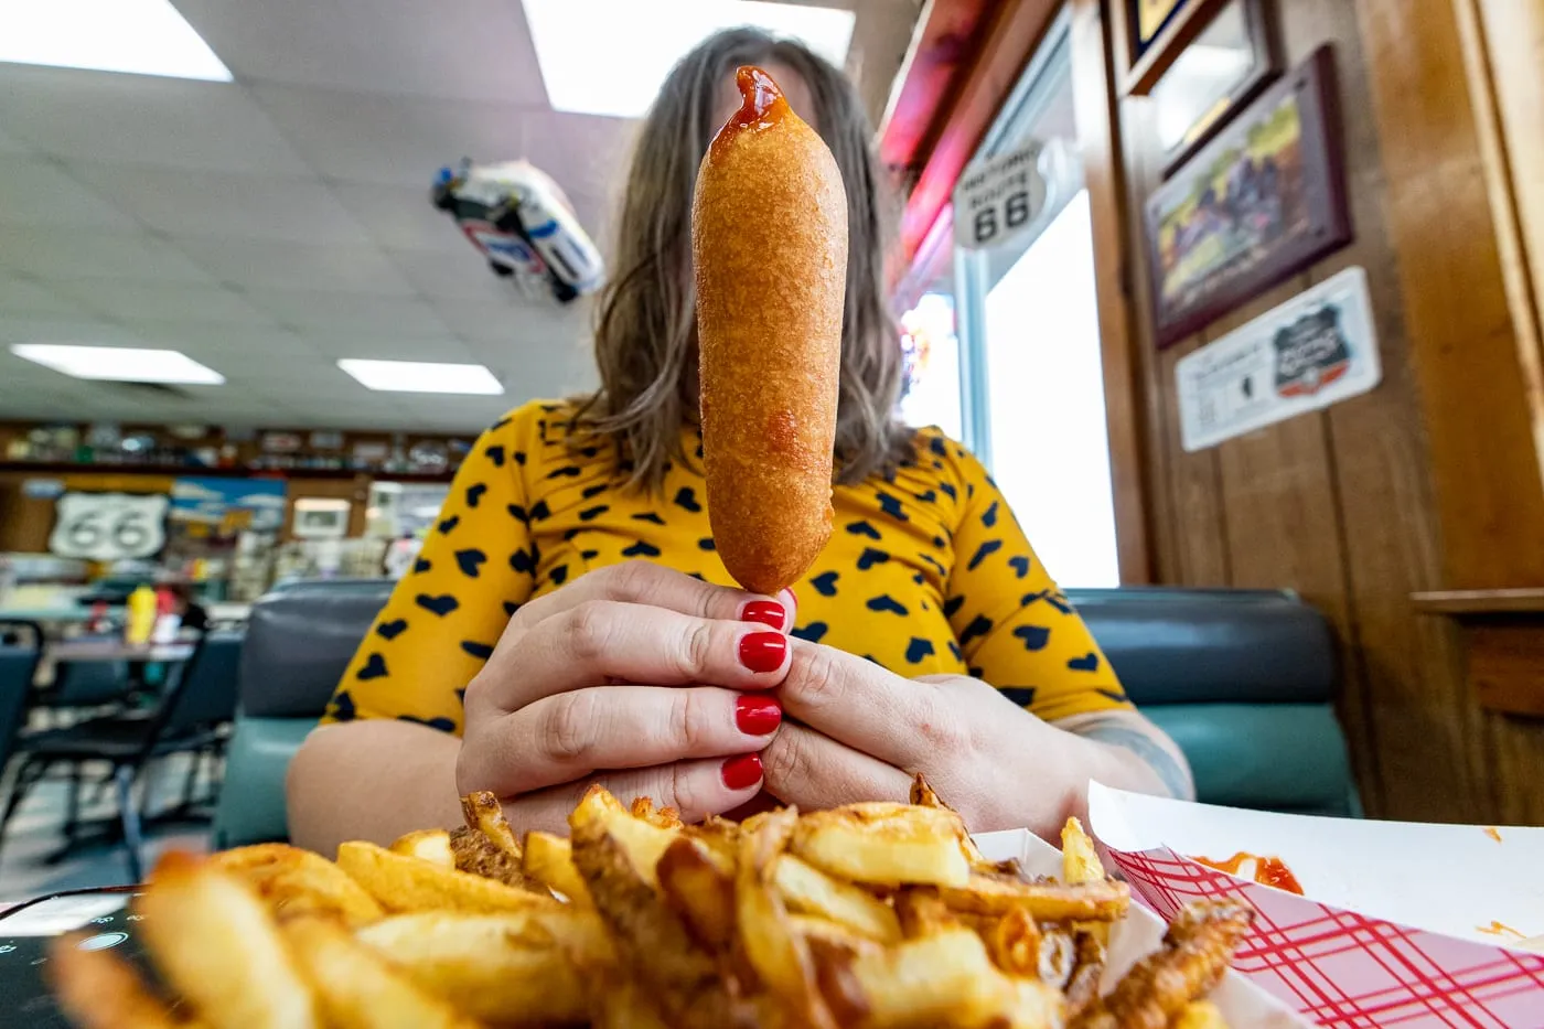
<svg viewBox="0 0 1544 1029">
<path fill-rule="evenodd" d="M 1089 193 L 1062 11 L 973 167 L 1042 147 L 1045 204 L 985 250 L 957 249 L 963 437 L 1062 586 L 1118 586 Z"/>
</svg>

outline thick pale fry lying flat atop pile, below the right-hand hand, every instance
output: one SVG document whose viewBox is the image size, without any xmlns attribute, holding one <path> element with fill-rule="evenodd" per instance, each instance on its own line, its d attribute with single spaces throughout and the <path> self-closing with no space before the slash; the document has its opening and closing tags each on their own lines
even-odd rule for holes
<svg viewBox="0 0 1544 1029">
<path fill-rule="evenodd" d="M 948 808 L 849 803 L 798 820 L 791 850 L 832 876 L 872 885 L 963 887 L 965 824 Z"/>
</svg>

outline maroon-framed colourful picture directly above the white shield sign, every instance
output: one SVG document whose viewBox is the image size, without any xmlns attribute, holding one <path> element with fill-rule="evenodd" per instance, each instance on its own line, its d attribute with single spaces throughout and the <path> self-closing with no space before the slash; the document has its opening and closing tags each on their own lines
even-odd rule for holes
<svg viewBox="0 0 1544 1029">
<path fill-rule="evenodd" d="M 1143 236 L 1158 346 L 1351 241 L 1329 45 L 1153 190 Z"/>
</svg>

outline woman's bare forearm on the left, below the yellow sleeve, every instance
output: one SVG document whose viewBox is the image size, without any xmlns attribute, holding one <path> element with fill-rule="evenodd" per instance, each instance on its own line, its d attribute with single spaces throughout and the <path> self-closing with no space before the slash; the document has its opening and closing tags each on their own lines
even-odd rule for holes
<svg viewBox="0 0 1544 1029">
<path fill-rule="evenodd" d="M 330 858 L 349 839 L 384 845 L 414 830 L 462 825 L 460 746 L 438 729 L 388 718 L 312 731 L 286 780 L 290 841 Z"/>
</svg>

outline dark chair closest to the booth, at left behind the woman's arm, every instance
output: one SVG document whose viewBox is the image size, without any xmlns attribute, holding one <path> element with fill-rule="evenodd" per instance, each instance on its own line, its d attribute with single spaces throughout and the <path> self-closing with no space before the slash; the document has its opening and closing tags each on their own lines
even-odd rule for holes
<svg viewBox="0 0 1544 1029">
<path fill-rule="evenodd" d="M 57 763 L 108 762 L 117 797 L 117 819 L 124 836 L 125 861 L 131 882 L 144 876 L 141 848 L 144 813 L 134 803 L 134 785 L 142 782 L 150 762 L 171 754 L 199 756 L 222 752 L 227 726 L 236 714 L 236 671 L 242 633 L 215 630 L 198 644 L 182 672 L 167 688 L 161 706 L 150 718 L 96 718 L 80 725 L 29 737 L 22 766 L 11 783 L 0 839 L 11 816 L 28 791 Z M 191 777 L 190 777 L 191 782 Z M 144 802 L 148 805 L 148 793 Z M 74 805 L 71 791 L 71 805 Z M 66 813 L 66 833 L 76 825 L 76 811 Z"/>
</svg>

